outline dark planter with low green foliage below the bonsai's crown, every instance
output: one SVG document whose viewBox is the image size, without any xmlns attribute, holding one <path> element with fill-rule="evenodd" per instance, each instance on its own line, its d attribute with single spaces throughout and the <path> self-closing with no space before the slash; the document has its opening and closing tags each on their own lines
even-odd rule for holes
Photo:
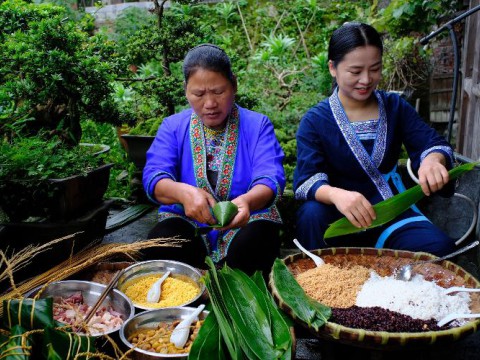
<svg viewBox="0 0 480 360">
<path fill-rule="evenodd" d="M 97 170 L 103 156 L 95 147 L 69 147 L 44 136 L 15 138 L 0 143 L 0 206 L 9 221 L 42 218 L 65 221 L 101 201 L 105 188 Z M 109 171 L 105 166 L 99 173 Z M 87 175 L 95 178 L 95 187 Z M 104 177 L 105 180 L 107 180 Z M 69 184 L 67 186 L 67 184 Z M 105 186 L 105 183 L 103 184 Z"/>
</svg>

